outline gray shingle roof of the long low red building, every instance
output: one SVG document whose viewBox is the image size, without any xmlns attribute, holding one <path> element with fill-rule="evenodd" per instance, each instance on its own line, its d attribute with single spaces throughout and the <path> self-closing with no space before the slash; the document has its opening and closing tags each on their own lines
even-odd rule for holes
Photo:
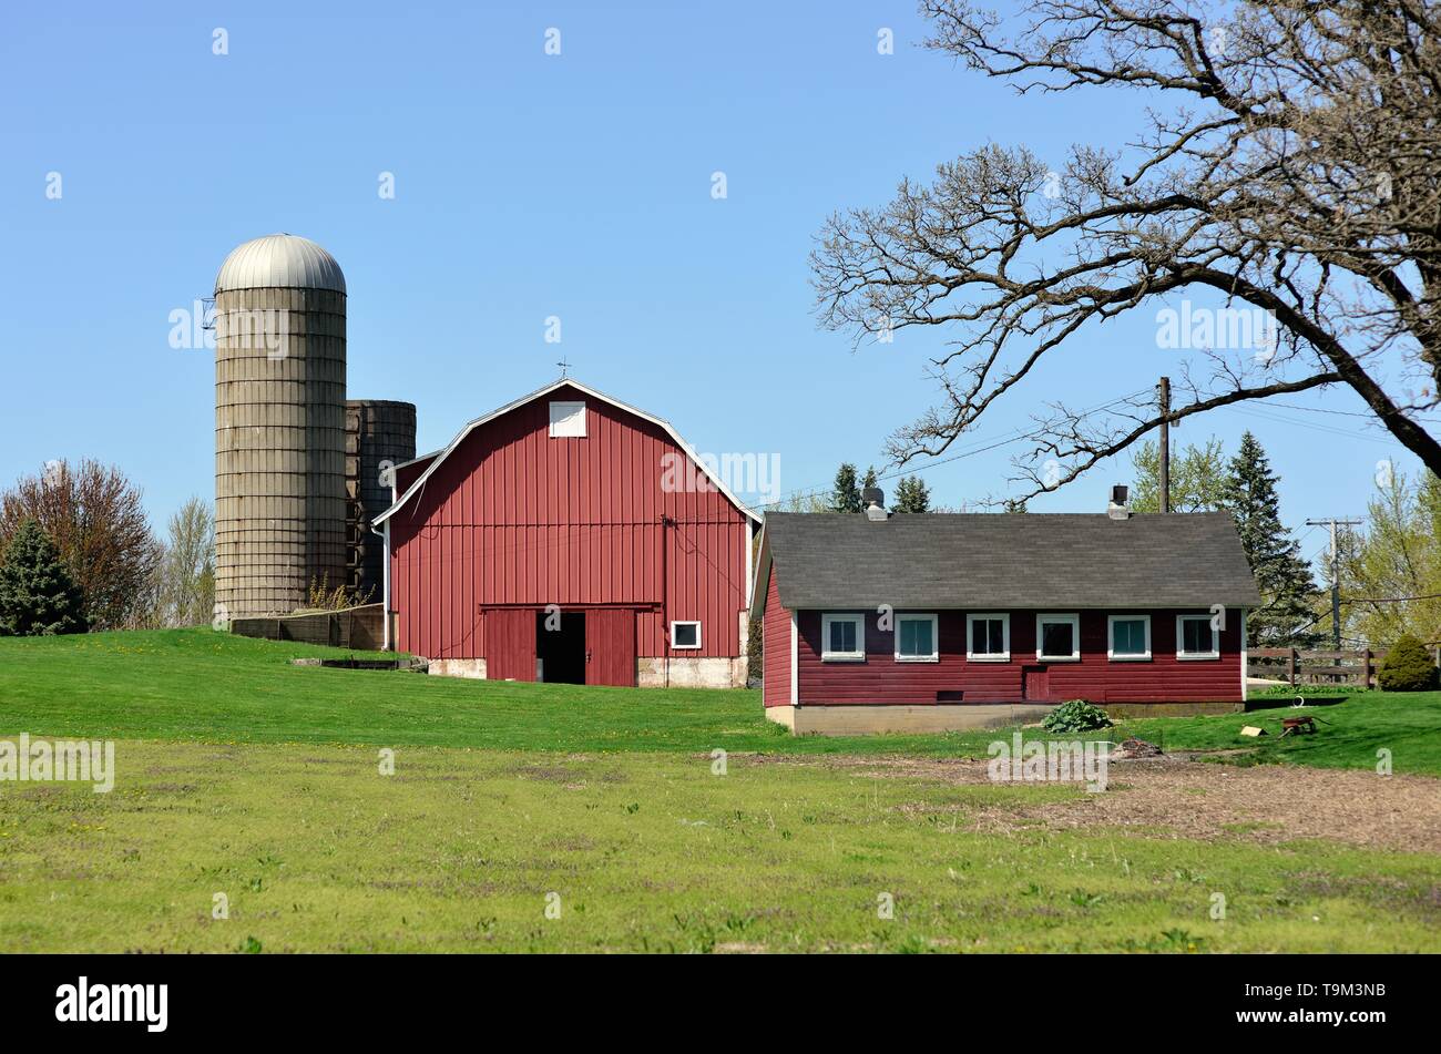
<svg viewBox="0 0 1441 1054">
<path fill-rule="evenodd" d="M 1229 513 L 771 513 L 765 534 L 793 611 L 1261 603 Z"/>
</svg>

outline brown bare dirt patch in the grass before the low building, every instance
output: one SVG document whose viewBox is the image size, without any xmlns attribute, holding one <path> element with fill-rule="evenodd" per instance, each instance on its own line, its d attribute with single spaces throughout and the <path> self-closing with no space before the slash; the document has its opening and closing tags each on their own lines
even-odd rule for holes
<svg viewBox="0 0 1441 1054">
<path fill-rule="evenodd" d="M 986 762 L 968 759 L 757 756 L 748 760 L 996 786 Z M 1131 826 L 1170 838 L 1241 838 L 1270 844 L 1326 838 L 1349 845 L 1441 852 L 1441 780 L 1429 776 L 1157 759 L 1114 762 L 1108 782 L 1104 793 L 1079 793 L 1061 802 L 1017 799 L 1014 805 L 983 805 L 967 811 L 967 816 L 970 826 L 978 831 L 1035 829 L 1038 824 L 1050 829 Z"/>
</svg>

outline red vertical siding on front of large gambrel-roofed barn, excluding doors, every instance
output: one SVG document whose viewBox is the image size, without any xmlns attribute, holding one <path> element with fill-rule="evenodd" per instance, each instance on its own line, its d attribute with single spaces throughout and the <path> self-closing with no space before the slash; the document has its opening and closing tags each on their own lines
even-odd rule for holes
<svg viewBox="0 0 1441 1054">
<path fill-rule="evenodd" d="M 550 438 L 552 400 L 586 403 L 584 438 Z M 677 619 L 702 623 L 684 655 L 741 655 L 748 520 L 715 490 L 663 491 L 666 455 L 684 464 L 663 428 L 576 389 L 478 426 L 389 521 L 398 647 L 484 658 L 481 608 L 628 605 L 638 655 L 664 655 Z"/>
</svg>

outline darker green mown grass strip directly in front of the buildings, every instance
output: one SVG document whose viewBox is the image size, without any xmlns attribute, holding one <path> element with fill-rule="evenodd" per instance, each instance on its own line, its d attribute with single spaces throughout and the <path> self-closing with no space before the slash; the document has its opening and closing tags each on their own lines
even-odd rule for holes
<svg viewBox="0 0 1441 1054">
<path fill-rule="evenodd" d="M 758 691 L 598 688 L 291 667 L 329 648 L 209 629 L 0 638 L 0 733 L 251 743 L 370 743 L 487 750 L 902 753 L 986 757 L 1001 731 L 794 737 Z M 359 652 L 365 655 L 365 652 Z M 1252 760 L 1441 775 L 1441 693 L 1357 694 L 1317 707 L 1317 736 L 1280 737 L 1281 710 L 1156 719 L 1098 733 L 1167 749 L 1254 752 Z M 1270 730 L 1238 736 L 1242 724 Z M 1036 730 L 1027 736 L 1046 737 Z"/>
</svg>

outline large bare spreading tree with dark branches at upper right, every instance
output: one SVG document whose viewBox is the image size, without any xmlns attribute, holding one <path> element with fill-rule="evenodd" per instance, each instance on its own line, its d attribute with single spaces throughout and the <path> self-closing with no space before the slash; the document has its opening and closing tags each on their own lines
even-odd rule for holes
<svg viewBox="0 0 1441 1054">
<path fill-rule="evenodd" d="M 954 334 L 932 363 L 942 402 L 895 432 L 893 461 L 947 449 L 1087 323 L 1196 289 L 1226 305 L 1208 328 L 1258 317 L 1274 341 L 1241 354 L 1197 331 L 1172 420 L 1344 384 L 1441 472 L 1441 443 L 1417 419 L 1441 383 L 1432 4 L 1026 0 L 1001 19 L 924 0 L 921 10 L 929 48 L 1020 94 L 1127 88 L 1157 108 L 1134 141 L 1074 147 L 1059 171 L 1027 150 L 987 147 L 938 166 L 929 186 L 902 181 L 882 209 L 827 222 L 811 258 L 823 325 L 857 344 L 915 325 Z M 1050 403 L 1017 459 L 1026 495 L 1160 423 L 1148 393 L 1099 420 Z"/>
</svg>

